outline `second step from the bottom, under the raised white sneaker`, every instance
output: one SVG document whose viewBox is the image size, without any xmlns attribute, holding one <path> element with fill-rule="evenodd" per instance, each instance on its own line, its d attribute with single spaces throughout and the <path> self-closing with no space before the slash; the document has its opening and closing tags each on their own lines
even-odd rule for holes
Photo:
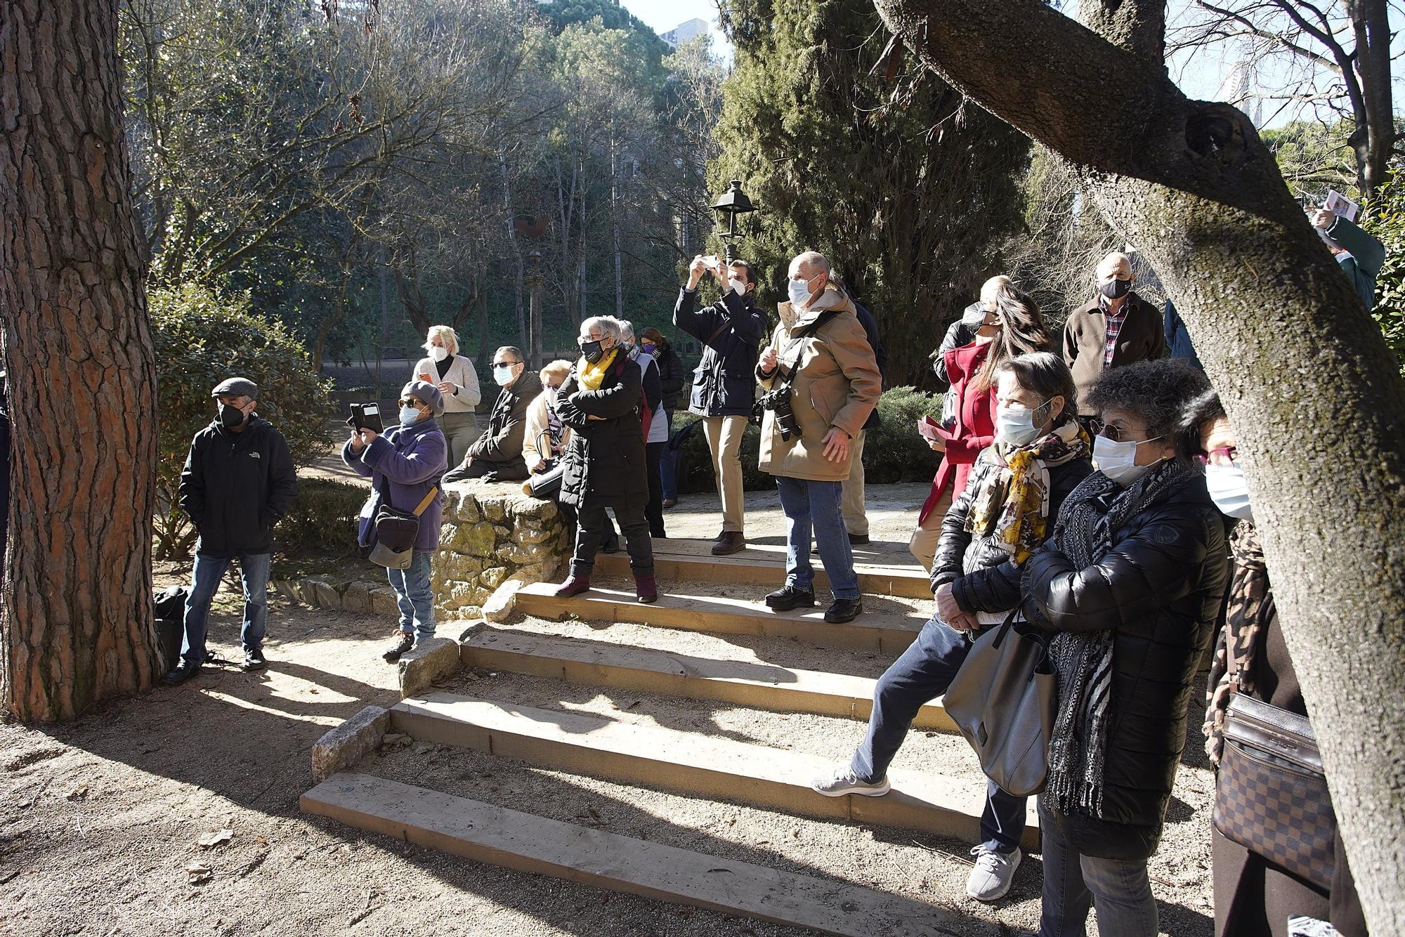
<svg viewBox="0 0 1405 937">
<path fill-rule="evenodd" d="M 400 701 L 391 709 L 391 722 L 398 732 L 426 742 L 624 784 L 969 841 L 979 836 L 985 805 L 984 784 L 915 771 L 889 771 L 892 791 L 884 797 L 830 798 L 809 782 L 833 768 L 832 759 L 448 693 Z M 1038 827 L 1027 825 L 1023 839 L 1037 846 Z"/>
</svg>

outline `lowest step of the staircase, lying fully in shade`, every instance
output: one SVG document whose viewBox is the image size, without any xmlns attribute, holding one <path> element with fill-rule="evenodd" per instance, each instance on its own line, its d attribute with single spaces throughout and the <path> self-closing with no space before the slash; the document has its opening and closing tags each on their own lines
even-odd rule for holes
<svg viewBox="0 0 1405 937">
<path fill-rule="evenodd" d="M 837 937 L 993 934 L 943 907 L 532 816 L 358 773 L 334 774 L 299 808 L 481 863 Z"/>
</svg>

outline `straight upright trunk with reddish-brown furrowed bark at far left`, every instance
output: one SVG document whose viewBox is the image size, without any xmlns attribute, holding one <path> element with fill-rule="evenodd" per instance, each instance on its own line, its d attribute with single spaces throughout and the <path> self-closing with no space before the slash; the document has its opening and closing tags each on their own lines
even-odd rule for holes
<svg viewBox="0 0 1405 937">
<path fill-rule="evenodd" d="M 150 687 L 156 361 L 117 0 L 0 10 L 0 323 L 14 426 L 0 705 L 70 719 Z"/>
</svg>

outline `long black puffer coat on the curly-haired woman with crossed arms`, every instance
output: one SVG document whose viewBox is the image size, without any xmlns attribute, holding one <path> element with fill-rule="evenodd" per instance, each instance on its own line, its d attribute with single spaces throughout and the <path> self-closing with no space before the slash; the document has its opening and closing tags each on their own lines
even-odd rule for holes
<svg viewBox="0 0 1405 937">
<path fill-rule="evenodd" d="M 1163 492 L 1113 534 L 1113 548 L 1075 569 L 1054 538 L 1024 563 L 1024 614 L 1050 631 L 1116 632 L 1102 819 L 1052 812 L 1085 856 L 1139 860 L 1156 851 L 1186 707 L 1227 584 L 1225 530 L 1203 475 Z M 1044 812 L 1041 804 L 1041 813 Z"/>
</svg>

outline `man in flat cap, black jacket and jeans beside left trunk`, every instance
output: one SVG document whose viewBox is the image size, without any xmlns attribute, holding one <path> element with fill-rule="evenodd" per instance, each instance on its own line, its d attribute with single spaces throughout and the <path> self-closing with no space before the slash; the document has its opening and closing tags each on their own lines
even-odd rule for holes
<svg viewBox="0 0 1405 937">
<path fill-rule="evenodd" d="M 244 670 L 267 666 L 263 656 L 268 620 L 268 563 L 273 525 L 292 506 L 298 475 L 288 443 L 268 420 L 254 413 L 259 388 L 247 378 L 229 378 L 211 396 L 215 419 L 195 434 L 180 475 L 180 507 L 190 516 L 195 545 L 194 582 L 185 600 L 181 662 L 166 683 L 184 683 L 205 663 L 209 603 L 232 559 L 239 559 L 244 587 Z"/>
</svg>

